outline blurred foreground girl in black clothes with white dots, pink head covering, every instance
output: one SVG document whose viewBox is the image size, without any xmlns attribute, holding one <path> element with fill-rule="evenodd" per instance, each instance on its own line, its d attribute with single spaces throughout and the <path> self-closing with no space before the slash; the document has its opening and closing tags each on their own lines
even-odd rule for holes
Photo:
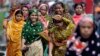
<svg viewBox="0 0 100 56">
<path fill-rule="evenodd" d="M 82 18 L 67 46 L 65 56 L 100 56 L 100 37 L 91 17 Z"/>
</svg>

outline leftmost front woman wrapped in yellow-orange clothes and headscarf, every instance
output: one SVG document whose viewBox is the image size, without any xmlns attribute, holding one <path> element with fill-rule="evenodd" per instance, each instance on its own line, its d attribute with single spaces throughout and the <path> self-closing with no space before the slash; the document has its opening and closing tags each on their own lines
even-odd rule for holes
<svg viewBox="0 0 100 56">
<path fill-rule="evenodd" d="M 24 25 L 24 17 L 21 10 L 16 10 L 7 25 L 7 55 L 22 56 L 21 32 Z"/>
</svg>

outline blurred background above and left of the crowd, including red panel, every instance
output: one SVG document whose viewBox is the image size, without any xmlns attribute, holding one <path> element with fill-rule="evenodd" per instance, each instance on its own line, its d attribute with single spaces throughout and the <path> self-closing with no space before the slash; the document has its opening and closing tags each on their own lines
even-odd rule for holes
<svg viewBox="0 0 100 56">
<path fill-rule="evenodd" d="M 0 0 L 0 56 L 5 56 L 6 52 L 6 39 L 3 31 L 3 20 L 9 15 L 9 11 L 12 4 L 30 4 L 38 5 L 41 2 L 48 3 L 49 6 L 57 1 L 61 1 L 69 6 L 73 11 L 73 4 L 78 2 L 86 3 L 86 13 L 92 14 L 94 6 L 99 0 Z"/>
</svg>

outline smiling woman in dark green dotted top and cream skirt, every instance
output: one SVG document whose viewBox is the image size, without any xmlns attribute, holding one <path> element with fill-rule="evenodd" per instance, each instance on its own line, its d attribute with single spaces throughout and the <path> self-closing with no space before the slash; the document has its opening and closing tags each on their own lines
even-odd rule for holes
<svg viewBox="0 0 100 56">
<path fill-rule="evenodd" d="M 39 36 L 42 31 L 42 23 L 38 21 L 38 11 L 33 9 L 29 12 L 29 19 L 22 31 L 23 49 L 27 49 L 25 56 L 43 56 L 43 47 Z"/>
</svg>

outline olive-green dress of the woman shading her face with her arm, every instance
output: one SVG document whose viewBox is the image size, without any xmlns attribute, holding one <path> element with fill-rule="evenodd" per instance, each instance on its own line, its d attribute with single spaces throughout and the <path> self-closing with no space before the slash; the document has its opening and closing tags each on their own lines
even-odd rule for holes
<svg viewBox="0 0 100 56">
<path fill-rule="evenodd" d="M 66 52 L 66 44 L 57 46 L 56 42 L 61 43 L 63 40 L 66 40 L 73 33 L 74 24 L 66 19 L 63 18 L 63 22 L 65 23 L 65 29 L 59 29 L 54 23 L 50 24 L 49 35 L 51 37 L 51 41 L 54 44 L 53 48 L 53 56 L 64 56 Z"/>
</svg>

